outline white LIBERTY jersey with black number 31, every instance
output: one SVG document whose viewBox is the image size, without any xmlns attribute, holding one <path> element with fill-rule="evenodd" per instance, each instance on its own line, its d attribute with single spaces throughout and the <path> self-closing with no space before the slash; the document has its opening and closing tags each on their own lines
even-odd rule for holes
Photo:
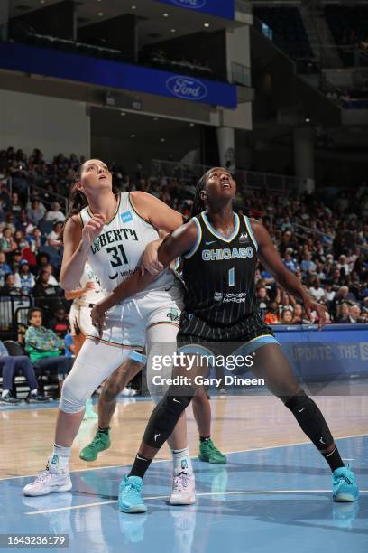
<svg viewBox="0 0 368 553">
<path fill-rule="evenodd" d="M 83 226 L 92 218 L 88 207 L 80 211 L 79 215 Z M 104 225 L 87 255 L 104 295 L 112 292 L 126 277 L 138 270 L 145 247 L 158 238 L 158 231 L 134 211 L 129 192 L 120 192 L 113 219 Z M 161 290 L 174 283 L 174 275 L 165 269 L 144 291 Z"/>
</svg>

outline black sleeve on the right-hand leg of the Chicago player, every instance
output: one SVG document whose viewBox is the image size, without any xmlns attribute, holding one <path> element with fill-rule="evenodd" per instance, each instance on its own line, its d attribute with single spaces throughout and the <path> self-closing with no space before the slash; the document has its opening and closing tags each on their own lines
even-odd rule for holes
<svg viewBox="0 0 368 553">
<path fill-rule="evenodd" d="M 300 428 L 317 449 L 323 451 L 333 444 L 334 438 L 325 418 L 316 403 L 306 395 L 304 390 L 300 390 L 296 396 L 289 398 L 285 407 L 290 409 L 299 422 Z"/>
</svg>

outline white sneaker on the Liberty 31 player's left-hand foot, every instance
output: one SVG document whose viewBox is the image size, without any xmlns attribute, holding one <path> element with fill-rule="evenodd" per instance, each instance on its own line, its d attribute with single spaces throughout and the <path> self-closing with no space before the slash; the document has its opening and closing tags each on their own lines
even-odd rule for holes
<svg viewBox="0 0 368 553">
<path fill-rule="evenodd" d="M 42 471 L 37 478 L 24 486 L 23 495 L 48 495 L 48 493 L 69 492 L 72 484 L 68 468 L 59 467 L 58 455 L 53 455 L 48 460 L 46 470 Z"/>
</svg>

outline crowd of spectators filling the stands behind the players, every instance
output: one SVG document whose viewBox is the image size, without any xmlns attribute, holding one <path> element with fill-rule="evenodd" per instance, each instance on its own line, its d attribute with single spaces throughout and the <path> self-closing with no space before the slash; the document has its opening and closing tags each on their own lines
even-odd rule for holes
<svg viewBox="0 0 368 553">
<path fill-rule="evenodd" d="M 68 312 L 69 305 L 58 281 L 62 253 L 59 234 L 65 212 L 54 202 L 53 194 L 68 197 L 83 161 L 77 155 L 67 158 L 60 154 L 47 163 L 38 149 L 31 155 L 13 147 L 0 151 L 0 295 L 31 295 L 54 330 L 60 324 L 57 314 L 63 309 Z M 117 166 L 112 171 L 116 190 L 150 192 L 190 215 L 194 183 L 180 183 L 175 169 L 168 176 L 152 176 L 138 163 L 130 174 Z M 31 195 L 27 192 L 30 184 L 37 186 Z M 350 195 L 341 192 L 328 197 L 319 192 L 301 197 L 294 192 L 282 195 L 250 190 L 240 180 L 235 207 L 262 220 L 285 266 L 311 295 L 327 305 L 331 323 L 367 322 L 366 185 Z M 267 321 L 306 321 L 303 307 L 275 286 L 262 266 L 257 272 L 257 295 Z"/>
</svg>

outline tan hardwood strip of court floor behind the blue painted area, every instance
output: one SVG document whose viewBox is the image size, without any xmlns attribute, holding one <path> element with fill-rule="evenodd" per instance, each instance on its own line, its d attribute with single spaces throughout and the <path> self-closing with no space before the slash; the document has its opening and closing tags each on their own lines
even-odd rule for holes
<svg viewBox="0 0 368 553">
<path fill-rule="evenodd" d="M 315 398 L 336 437 L 368 433 L 368 396 Z M 248 451 L 275 445 L 308 443 L 294 417 L 281 401 L 270 396 L 226 396 L 211 399 L 212 436 L 224 452 Z M 82 423 L 73 445 L 71 470 L 131 464 L 152 412 L 152 402 L 124 400 L 112 422 L 112 446 L 97 461 L 78 458 L 80 448 L 94 436 L 97 422 Z M 44 467 L 51 453 L 57 408 L 15 408 L 0 411 L 0 479 L 31 475 Z M 198 455 L 198 432 L 189 408 L 189 448 Z M 341 451 L 343 457 L 351 452 Z M 167 445 L 158 459 L 169 459 Z"/>
</svg>

